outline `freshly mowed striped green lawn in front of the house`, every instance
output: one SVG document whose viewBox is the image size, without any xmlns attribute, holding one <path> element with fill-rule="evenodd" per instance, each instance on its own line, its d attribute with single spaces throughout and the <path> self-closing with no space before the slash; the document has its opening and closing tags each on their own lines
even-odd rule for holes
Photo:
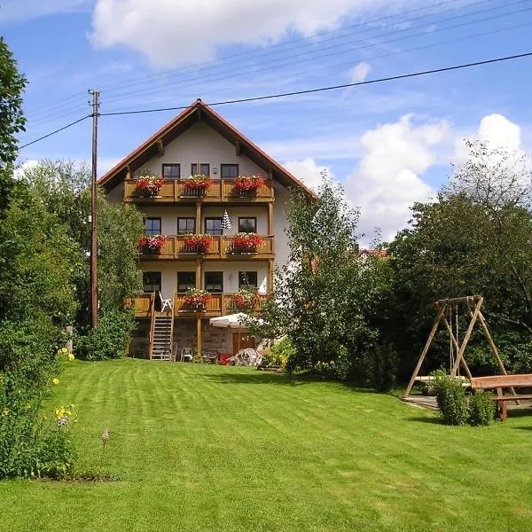
<svg viewBox="0 0 532 532">
<path fill-rule="evenodd" d="M 49 406 L 70 402 L 80 471 L 114 480 L 2 481 L 0 529 L 532 529 L 532 415 L 442 426 L 340 384 L 130 359 L 67 364 Z"/>
</svg>

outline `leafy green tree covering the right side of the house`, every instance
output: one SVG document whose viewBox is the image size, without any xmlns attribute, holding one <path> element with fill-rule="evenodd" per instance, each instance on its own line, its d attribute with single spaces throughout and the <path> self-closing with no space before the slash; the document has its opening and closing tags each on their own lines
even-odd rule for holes
<svg viewBox="0 0 532 532">
<path fill-rule="evenodd" d="M 378 337 L 366 319 L 375 301 L 372 262 L 358 257 L 358 212 L 324 176 L 317 200 L 293 192 L 287 208 L 289 265 L 276 270 L 262 334 L 286 335 L 288 370 L 346 379 Z"/>
</svg>

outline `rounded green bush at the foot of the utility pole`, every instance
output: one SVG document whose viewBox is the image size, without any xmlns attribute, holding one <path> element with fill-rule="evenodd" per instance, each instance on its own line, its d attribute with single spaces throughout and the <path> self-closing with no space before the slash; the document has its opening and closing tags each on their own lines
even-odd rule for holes
<svg viewBox="0 0 532 532">
<path fill-rule="evenodd" d="M 131 310 L 106 310 L 95 329 L 86 336 L 74 337 L 74 353 L 85 360 L 121 358 L 126 354 L 134 329 L 135 315 Z"/>
</svg>

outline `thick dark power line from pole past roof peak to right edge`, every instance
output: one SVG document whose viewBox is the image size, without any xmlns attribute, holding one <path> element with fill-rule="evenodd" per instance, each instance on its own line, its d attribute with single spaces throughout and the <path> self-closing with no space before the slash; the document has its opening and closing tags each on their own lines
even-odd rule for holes
<svg viewBox="0 0 532 532">
<path fill-rule="evenodd" d="M 213 102 L 210 104 L 207 104 L 208 106 L 225 106 L 228 104 L 242 104 L 246 102 L 255 102 L 260 100 L 266 100 L 266 99 L 274 99 L 274 98 L 286 98 L 287 96 L 299 96 L 301 94 L 311 94 L 315 92 L 325 92 L 326 90 L 337 90 L 337 89 L 347 89 L 348 87 L 358 87 L 361 85 L 372 85 L 375 83 L 382 83 L 382 82 L 393 82 L 397 80 L 403 80 L 407 78 L 413 78 L 413 77 L 419 77 L 423 75 L 428 74 L 438 74 L 442 72 L 450 72 L 451 70 L 460 70 L 463 68 L 470 68 L 472 66 L 482 66 L 482 65 L 490 65 L 493 63 L 501 63 L 503 61 L 509 61 L 512 59 L 521 59 L 521 58 L 527 58 L 529 56 L 532 56 L 532 51 L 528 51 L 526 53 L 520 53 L 512 56 L 505 56 L 502 58 L 496 58 L 496 59 L 485 59 L 483 61 L 475 61 L 473 63 L 464 63 L 462 65 L 453 65 L 453 66 L 442 66 L 441 68 L 433 68 L 432 70 L 424 70 L 421 72 L 413 72 L 410 74 L 399 74 L 399 75 L 393 75 L 388 76 L 384 78 L 377 78 L 375 80 L 366 80 L 364 82 L 355 82 L 355 83 L 342 83 L 341 85 L 332 85 L 329 87 L 318 87 L 317 89 L 308 89 L 308 90 L 294 90 L 293 92 L 283 92 L 279 94 L 269 94 L 267 96 L 255 96 L 253 98 L 239 98 L 239 99 L 233 99 L 233 100 L 225 100 L 221 102 Z M 139 109 L 137 111 L 119 111 L 115 113 L 100 113 L 100 116 L 117 116 L 121 114 L 140 114 L 140 113 L 160 113 L 162 111 L 179 111 L 188 108 L 189 106 L 178 106 L 178 107 L 160 107 L 158 109 Z"/>
</svg>

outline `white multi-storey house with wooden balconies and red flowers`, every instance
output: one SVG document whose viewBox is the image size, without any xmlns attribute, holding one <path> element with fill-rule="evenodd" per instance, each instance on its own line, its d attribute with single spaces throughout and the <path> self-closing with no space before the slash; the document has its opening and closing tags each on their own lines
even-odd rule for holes
<svg viewBox="0 0 532 532">
<path fill-rule="evenodd" d="M 140 186 L 146 176 L 156 179 L 147 193 Z M 260 312 L 273 288 L 274 266 L 288 258 L 290 190 L 312 192 L 201 100 L 99 184 L 109 200 L 136 205 L 146 237 L 159 239 L 158 248 L 140 249 L 145 293 L 135 302 L 132 354 L 164 358 L 184 348 L 234 354 L 238 346 L 253 346 L 254 339 L 239 334 L 237 340 L 238 332 L 208 320 Z M 202 301 L 192 304 L 199 294 Z"/>
</svg>

